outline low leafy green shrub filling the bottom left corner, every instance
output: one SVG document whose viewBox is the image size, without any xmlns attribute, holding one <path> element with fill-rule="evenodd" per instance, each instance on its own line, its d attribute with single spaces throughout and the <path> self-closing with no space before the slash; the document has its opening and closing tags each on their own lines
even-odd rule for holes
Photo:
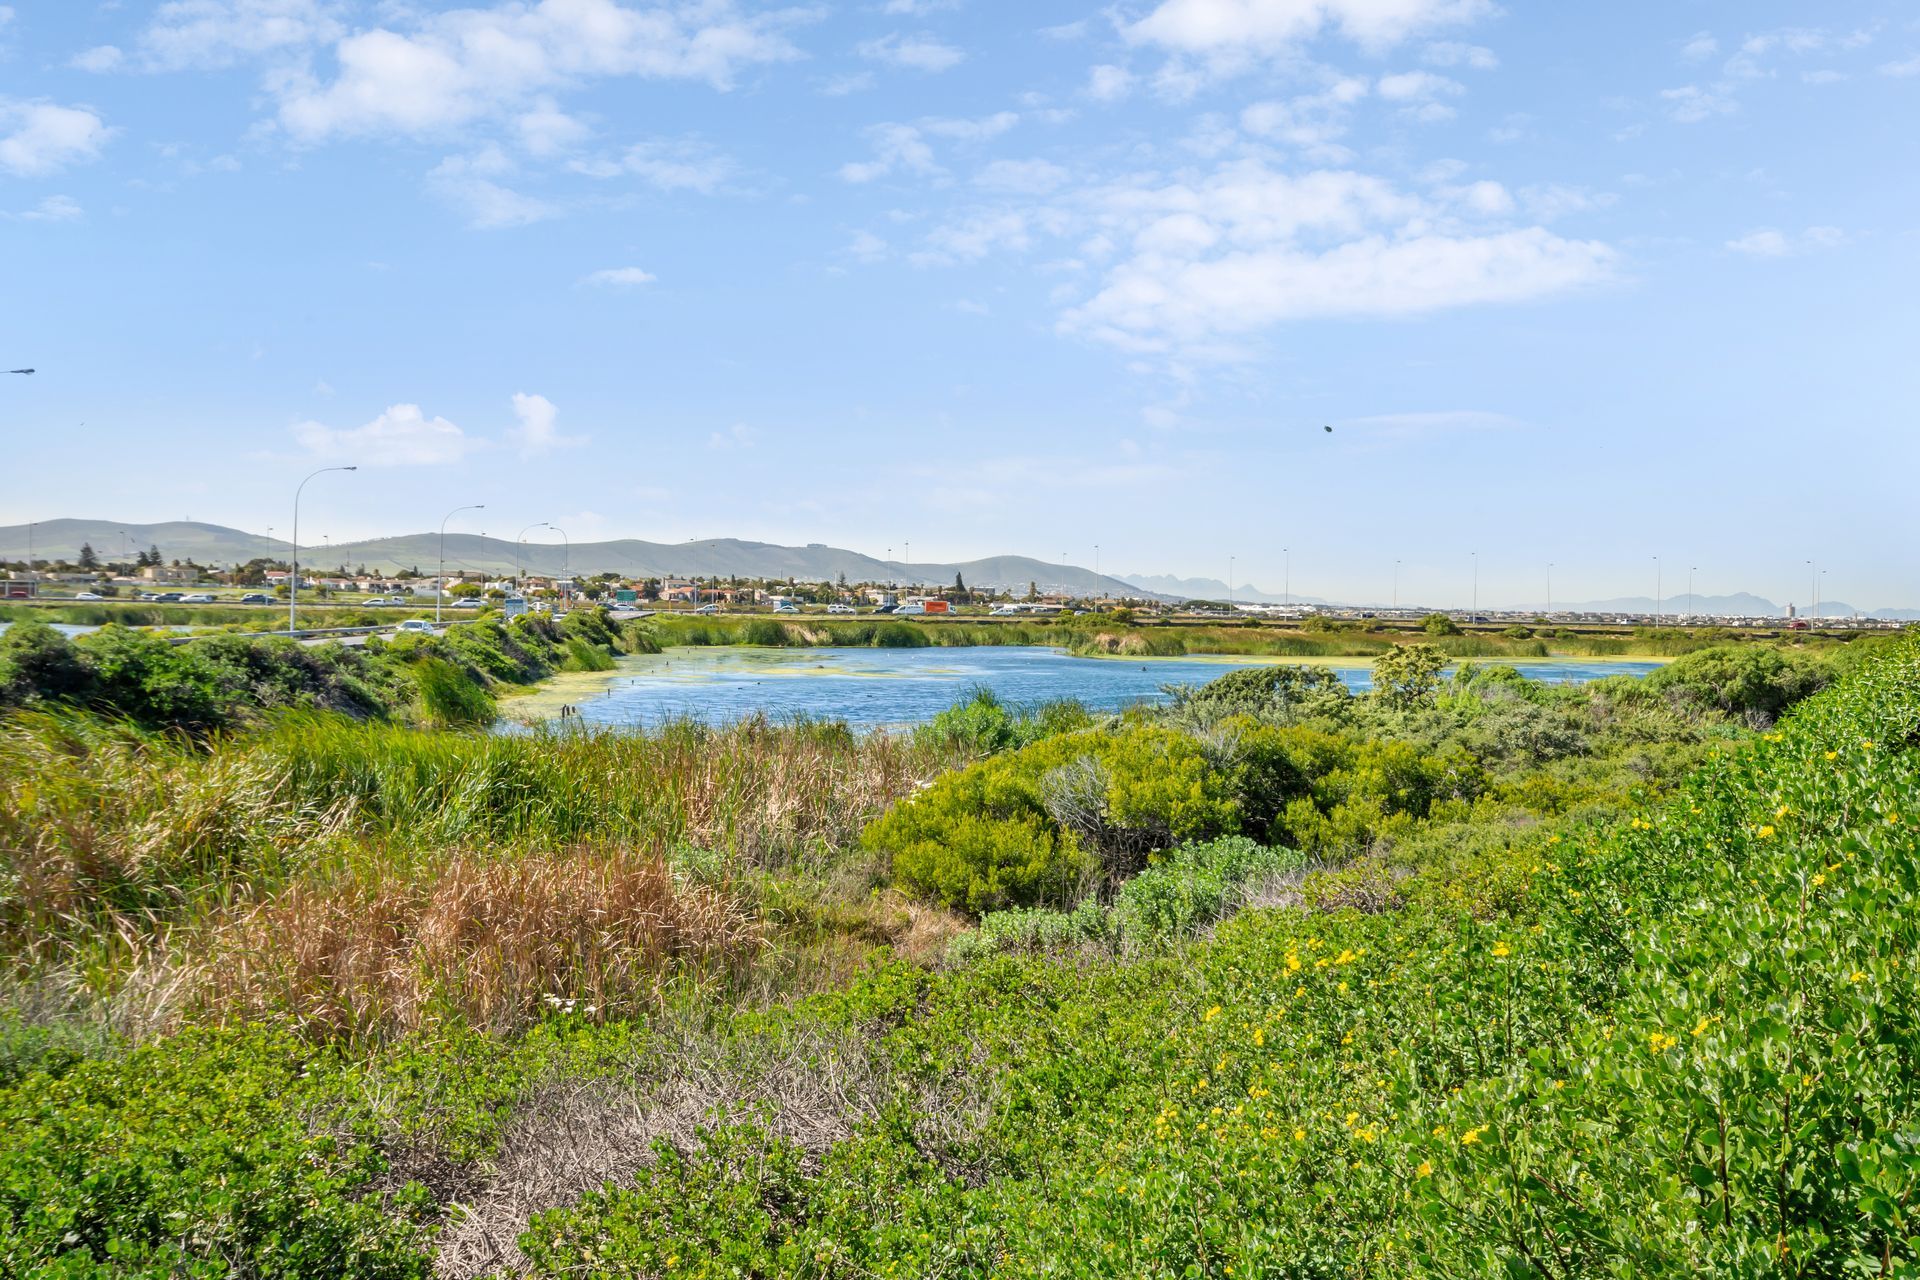
<svg viewBox="0 0 1920 1280">
<path fill-rule="evenodd" d="M 186 1032 L 0 1090 L 8 1274 L 424 1278 L 417 1196 L 334 1107 L 324 1055 L 248 1029 Z"/>
</svg>

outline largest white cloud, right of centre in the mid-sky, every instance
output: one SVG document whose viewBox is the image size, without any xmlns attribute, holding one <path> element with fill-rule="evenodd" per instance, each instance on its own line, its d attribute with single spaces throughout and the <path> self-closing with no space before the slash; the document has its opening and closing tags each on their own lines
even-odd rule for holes
<svg viewBox="0 0 1920 1280">
<path fill-rule="evenodd" d="M 1601 284 L 1617 253 L 1515 225 L 1498 182 L 1434 173 L 1430 196 L 1344 169 L 1286 173 L 1233 159 L 1212 173 L 1139 177 L 973 209 L 935 226 L 920 265 L 1020 253 L 1071 238 L 1102 263 L 1064 299 L 1064 332 L 1121 349 L 1206 359 L 1277 324 L 1413 317 L 1521 303 Z"/>
</svg>

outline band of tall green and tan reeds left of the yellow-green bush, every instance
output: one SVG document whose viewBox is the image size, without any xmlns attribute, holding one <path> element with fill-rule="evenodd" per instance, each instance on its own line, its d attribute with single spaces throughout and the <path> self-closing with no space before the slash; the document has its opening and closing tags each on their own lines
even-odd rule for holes
<svg viewBox="0 0 1920 1280">
<path fill-rule="evenodd" d="M 691 846 L 785 867 L 956 758 L 841 725 L 486 735 L 296 714 L 194 743 L 79 714 L 0 718 L 0 944 L 44 950 L 278 892 L 342 848 Z"/>
</svg>

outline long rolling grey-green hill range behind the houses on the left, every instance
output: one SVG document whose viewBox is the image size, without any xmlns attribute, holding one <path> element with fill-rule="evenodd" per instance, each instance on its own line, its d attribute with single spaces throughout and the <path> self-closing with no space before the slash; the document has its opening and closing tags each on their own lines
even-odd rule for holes
<svg viewBox="0 0 1920 1280">
<path fill-rule="evenodd" d="M 125 533 L 125 543 L 123 535 Z M 131 553 L 159 547 L 167 560 L 198 560 L 200 564 L 244 564 L 255 557 L 284 560 L 288 543 L 284 537 L 265 537 L 244 530 L 230 530 L 219 524 L 198 524 L 169 520 L 165 524 L 129 524 L 121 520 L 42 520 L 33 528 L 33 553 L 42 560 L 73 560 L 81 555 L 81 543 L 92 543 L 94 553 L 108 558 L 121 558 L 121 547 Z M 367 566 L 374 572 L 397 572 L 419 568 L 434 572 L 440 555 L 438 533 L 403 533 L 397 537 L 371 537 L 363 541 L 332 543 L 300 549 L 303 564 L 315 568 Z M 27 557 L 27 526 L 0 526 L 0 558 L 23 560 Z M 524 566 L 528 574 L 551 576 L 564 570 L 574 574 L 622 574 L 622 576 L 687 576 L 687 578 L 797 578 L 801 581 L 897 581 L 902 587 L 927 585 L 950 587 L 954 576 L 962 576 L 970 587 L 993 587 L 1025 591 L 1027 583 L 1037 583 L 1041 591 L 1066 589 L 1075 595 L 1140 595 L 1140 591 L 1117 578 L 1094 574 L 1077 564 L 1050 564 L 1033 557 L 987 557 L 962 562 L 914 562 L 879 560 L 858 551 L 808 543 L 804 547 L 781 547 L 778 543 L 753 543 L 737 537 L 716 537 L 691 543 L 649 543 L 626 537 L 605 543 L 574 543 L 568 551 L 557 541 L 513 543 L 505 537 L 486 537 L 480 533 L 447 533 L 447 570 L 468 570 L 482 574 L 513 574 Z"/>
</svg>

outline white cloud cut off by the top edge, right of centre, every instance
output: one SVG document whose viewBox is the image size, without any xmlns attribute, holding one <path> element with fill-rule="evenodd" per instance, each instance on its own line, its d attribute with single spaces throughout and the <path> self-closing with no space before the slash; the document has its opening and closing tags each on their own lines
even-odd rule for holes
<svg viewBox="0 0 1920 1280">
<path fill-rule="evenodd" d="M 1332 33 L 1384 50 L 1494 12 L 1492 0 L 1164 0 L 1121 35 L 1185 54 L 1281 54 Z"/>
</svg>

